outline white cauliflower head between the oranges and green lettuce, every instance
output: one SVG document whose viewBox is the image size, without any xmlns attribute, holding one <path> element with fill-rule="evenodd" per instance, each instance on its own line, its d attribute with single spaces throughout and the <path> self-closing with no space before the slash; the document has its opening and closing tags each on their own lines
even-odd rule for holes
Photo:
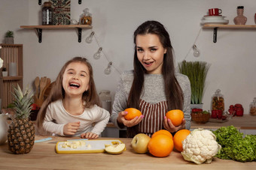
<svg viewBox="0 0 256 170">
<path fill-rule="evenodd" d="M 193 130 L 182 142 L 182 147 L 184 160 L 197 164 L 211 163 L 212 158 L 221 150 L 215 134 L 203 128 Z"/>
</svg>

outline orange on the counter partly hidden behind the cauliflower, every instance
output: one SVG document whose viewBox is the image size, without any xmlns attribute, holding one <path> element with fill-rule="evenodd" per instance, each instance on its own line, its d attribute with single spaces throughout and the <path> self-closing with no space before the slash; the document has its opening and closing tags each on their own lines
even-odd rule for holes
<svg viewBox="0 0 256 170">
<path fill-rule="evenodd" d="M 178 130 L 177 133 L 173 136 L 173 144 L 174 148 L 178 151 L 183 151 L 182 148 L 182 141 L 187 138 L 187 136 L 190 134 L 190 130 Z"/>
</svg>

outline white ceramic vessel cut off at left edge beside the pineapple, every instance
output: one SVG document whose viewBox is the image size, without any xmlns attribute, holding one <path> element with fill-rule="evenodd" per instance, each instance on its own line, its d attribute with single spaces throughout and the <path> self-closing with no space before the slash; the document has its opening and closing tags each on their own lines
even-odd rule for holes
<svg viewBox="0 0 256 170">
<path fill-rule="evenodd" d="M 5 144 L 8 136 L 7 114 L 0 114 L 0 145 Z"/>
</svg>

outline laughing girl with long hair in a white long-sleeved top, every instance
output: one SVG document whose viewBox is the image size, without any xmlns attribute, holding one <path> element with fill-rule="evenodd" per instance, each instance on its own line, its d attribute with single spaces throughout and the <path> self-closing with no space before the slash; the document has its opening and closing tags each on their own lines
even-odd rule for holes
<svg viewBox="0 0 256 170">
<path fill-rule="evenodd" d="M 72 58 L 60 70 L 41 106 L 38 133 L 96 139 L 109 121 L 109 112 L 99 106 L 93 68 L 86 58 Z"/>
</svg>

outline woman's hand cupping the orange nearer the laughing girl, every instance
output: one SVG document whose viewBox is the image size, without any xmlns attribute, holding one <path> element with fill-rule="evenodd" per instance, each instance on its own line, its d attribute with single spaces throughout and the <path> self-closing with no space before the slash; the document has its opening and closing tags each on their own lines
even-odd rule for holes
<svg viewBox="0 0 256 170">
<path fill-rule="evenodd" d="M 143 115 L 141 116 L 137 116 L 136 118 L 133 118 L 132 120 L 130 121 L 127 121 L 125 118 L 124 118 L 124 115 L 127 115 L 127 112 L 126 111 L 123 111 L 123 112 L 119 112 L 118 113 L 118 117 L 117 117 L 117 122 L 118 124 L 123 124 L 124 126 L 126 127 L 133 127 L 137 124 L 139 124 L 139 122 L 142 121 L 142 118 L 143 118 Z"/>
</svg>

